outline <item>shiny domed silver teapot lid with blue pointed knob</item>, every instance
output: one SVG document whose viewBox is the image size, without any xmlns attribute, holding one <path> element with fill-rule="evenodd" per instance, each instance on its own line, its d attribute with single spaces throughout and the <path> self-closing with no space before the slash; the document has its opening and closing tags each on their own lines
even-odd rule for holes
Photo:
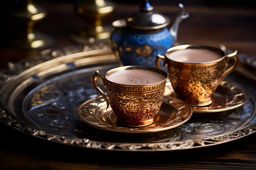
<svg viewBox="0 0 256 170">
<path fill-rule="evenodd" d="M 126 21 L 128 26 L 142 30 L 160 29 L 170 23 L 170 19 L 159 11 L 154 10 L 148 0 L 144 0 L 140 10 L 133 13 Z"/>
</svg>

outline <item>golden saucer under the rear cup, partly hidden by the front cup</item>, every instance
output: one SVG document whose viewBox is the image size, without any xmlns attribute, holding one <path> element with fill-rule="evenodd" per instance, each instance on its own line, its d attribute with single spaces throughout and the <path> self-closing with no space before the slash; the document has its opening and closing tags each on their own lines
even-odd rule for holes
<svg viewBox="0 0 256 170">
<path fill-rule="evenodd" d="M 166 97 L 177 96 L 171 82 L 166 82 L 164 95 Z M 248 102 L 250 95 L 242 85 L 225 80 L 223 86 L 218 86 L 211 97 L 213 102 L 209 106 L 191 106 L 193 113 L 213 113 L 238 108 Z"/>
</svg>

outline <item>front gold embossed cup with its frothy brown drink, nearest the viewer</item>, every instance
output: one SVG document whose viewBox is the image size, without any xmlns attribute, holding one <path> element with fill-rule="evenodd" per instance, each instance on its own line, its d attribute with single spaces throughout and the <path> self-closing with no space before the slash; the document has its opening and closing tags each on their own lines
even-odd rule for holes
<svg viewBox="0 0 256 170">
<path fill-rule="evenodd" d="M 108 95 L 97 85 L 103 81 Z M 116 123 L 121 126 L 140 127 L 153 123 L 159 111 L 168 74 L 150 66 L 122 66 L 108 71 L 104 76 L 96 71 L 93 85 L 104 97 L 117 116 Z"/>
</svg>

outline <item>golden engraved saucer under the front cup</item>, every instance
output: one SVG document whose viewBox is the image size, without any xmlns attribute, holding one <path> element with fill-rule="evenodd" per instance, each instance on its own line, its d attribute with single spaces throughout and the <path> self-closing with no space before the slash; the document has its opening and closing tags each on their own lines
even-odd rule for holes
<svg viewBox="0 0 256 170">
<path fill-rule="evenodd" d="M 192 116 L 191 107 L 182 100 L 168 97 L 165 101 L 172 100 L 173 104 L 163 102 L 160 110 L 154 118 L 153 124 L 144 127 L 123 127 L 116 124 L 116 115 L 111 108 L 106 110 L 106 102 L 103 97 L 95 97 L 83 102 L 77 108 L 77 116 L 85 124 L 95 128 L 115 132 L 143 133 L 157 132 L 175 128 L 184 124 Z"/>
</svg>

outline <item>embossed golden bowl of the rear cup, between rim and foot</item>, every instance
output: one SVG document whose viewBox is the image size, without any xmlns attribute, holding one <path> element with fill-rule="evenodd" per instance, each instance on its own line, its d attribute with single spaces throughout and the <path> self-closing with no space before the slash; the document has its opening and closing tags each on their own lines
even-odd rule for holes
<svg viewBox="0 0 256 170">
<path fill-rule="evenodd" d="M 208 98 L 220 82 L 223 73 L 220 66 L 222 65 L 219 64 L 219 67 L 216 67 L 216 64 L 213 64 L 207 67 L 209 69 L 200 71 L 186 70 L 184 67 L 170 67 L 169 77 L 173 89 L 177 94 L 182 94 L 182 98 Z"/>
</svg>

